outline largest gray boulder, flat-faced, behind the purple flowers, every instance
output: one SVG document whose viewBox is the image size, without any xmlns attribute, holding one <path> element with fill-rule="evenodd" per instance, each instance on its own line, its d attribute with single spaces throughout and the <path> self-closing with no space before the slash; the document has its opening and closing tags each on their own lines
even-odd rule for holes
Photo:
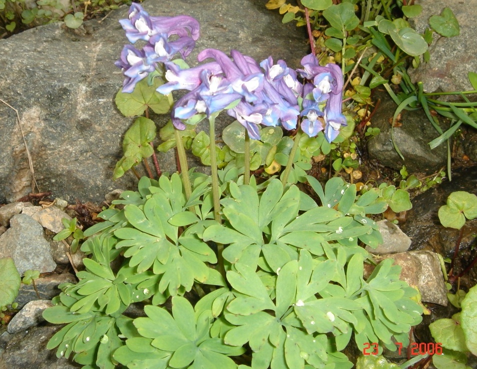
<svg viewBox="0 0 477 369">
<path fill-rule="evenodd" d="M 267 10 L 265 2 L 150 0 L 143 6 L 151 15 L 189 14 L 201 22 L 190 64 L 199 50 L 213 47 L 236 48 L 257 60 L 272 55 L 298 67 L 308 53 L 303 27 L 282 24 L 281 15 Z M 68 201 L 100 202 L 114 188 L 134 187 L 131 174 L 111 179 L 122 155 L 121 138 L 132 121 L 114 104 L 123 76 L 113 62 L 127 43 L 118 20 L 127 10 L 123 6 L 78 30 L 53 23 L 0 40 L 2 99 L 18 109 L 40 190 Z M 2 201 L 26 194 L 32 178 L 15 112 L 0 104 L 0 120 Z M 163 124 L 167 117 L 157 120 Z M 222 120 L 231 121 L 224 115 L 217 123 Z M 159 161 L 163 170 L 175 171 L 172 152 L 159 154 Z"/>
</svg>

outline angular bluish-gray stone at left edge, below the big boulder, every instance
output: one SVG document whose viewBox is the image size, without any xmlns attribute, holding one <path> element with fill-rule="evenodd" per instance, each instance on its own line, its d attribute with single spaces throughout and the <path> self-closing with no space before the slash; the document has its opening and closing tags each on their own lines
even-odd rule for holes
<svg viewBox="0 0 477 369">
<path fill-rule="evenodd" d="M 0 236 L 0 257 L 7 256 L 13 259 L 20 275 L 28 269 L 44 273 L 56 267 L 43 228 L 25 214 L 14 215 L 10 228 Z"/>
</svg>

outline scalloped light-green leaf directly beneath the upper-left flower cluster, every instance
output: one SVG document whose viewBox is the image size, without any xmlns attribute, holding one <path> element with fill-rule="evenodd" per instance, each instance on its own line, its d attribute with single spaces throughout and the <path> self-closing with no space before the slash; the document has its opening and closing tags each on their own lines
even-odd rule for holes
<svg viewBox="0 0 477 369">
<path fill-rule="evenodd" d="M 147 107 L 157 114 L 165 114 L 170 105 L 167 96 L 155 90 L 160 84 L 159 78 L 153 78 L 151 85 L 148 84 L 148 78 L 144 78 L 136 83 L 131 93 L 119 90 L 115 98 L 117 108 L 124 116 L 141 115 Z"/>
</svg>

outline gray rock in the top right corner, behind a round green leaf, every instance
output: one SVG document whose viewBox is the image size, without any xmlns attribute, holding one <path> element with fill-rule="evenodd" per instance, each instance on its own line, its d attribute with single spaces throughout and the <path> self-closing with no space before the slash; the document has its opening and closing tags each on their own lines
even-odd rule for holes
<svg viewBox="0 0 477 369">
<path fill-rule="evenodd" d="M 410 21 L 418 32 L 428 27 L 430 16 L 439 15 L 444 7 L 449 7 L 459 22 L 460 34 L 443 37 L 434 32 L 429 46 L 430 60 L 421 62 L 415 70 L 408 70 L 412 81 L 422 81 L 425 92 L 473 89 L 467 73 L 477 71 L 477 59 L 469 52 L 477 49 L 477 0 L 418 0 L 415 3 L 422 6 L 422 12 Z"/>
</svg>

